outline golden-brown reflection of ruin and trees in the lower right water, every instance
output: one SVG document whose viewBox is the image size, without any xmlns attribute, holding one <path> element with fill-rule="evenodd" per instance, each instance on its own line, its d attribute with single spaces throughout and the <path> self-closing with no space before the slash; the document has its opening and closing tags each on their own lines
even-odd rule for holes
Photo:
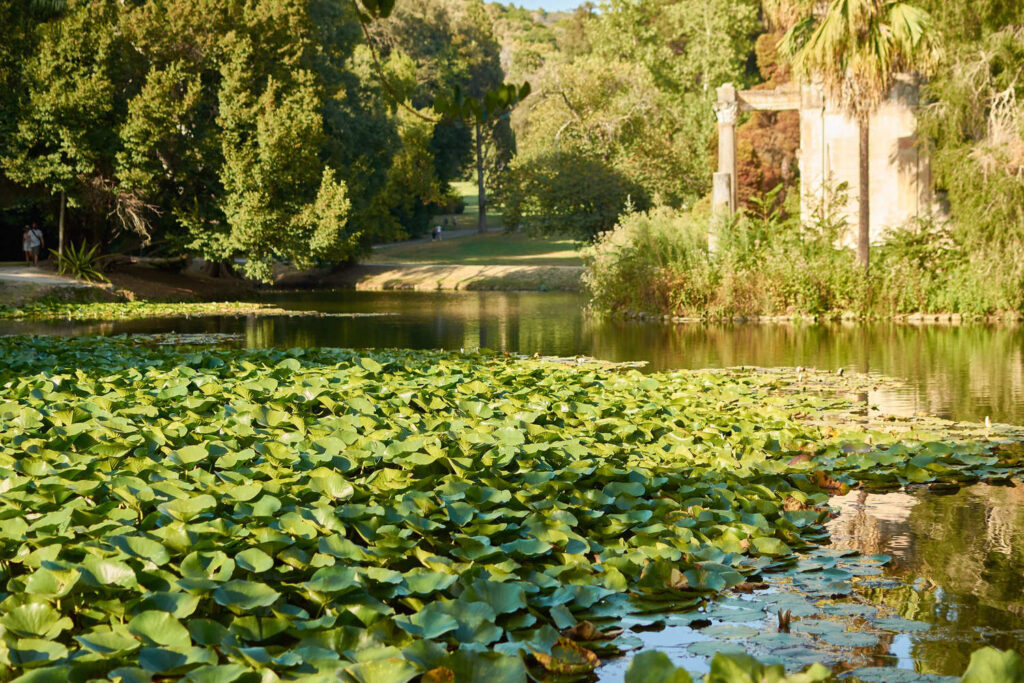
<svg viewBox="0 0 1024 683">
<path fill-rule="evenodd" d="M 977 484 L 926 493 L 833 499 L 833 544 L 887 553 L 886 579 L 856 592 L 933 625 L 905 634 L 919 671 L 958 675 L 983 645 L 1024 650 L 1024 486 Z"/>
</svg>

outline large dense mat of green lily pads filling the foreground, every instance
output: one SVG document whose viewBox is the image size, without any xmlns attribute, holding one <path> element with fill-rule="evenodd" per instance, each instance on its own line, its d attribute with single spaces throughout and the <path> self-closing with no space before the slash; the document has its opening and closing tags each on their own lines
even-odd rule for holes
<svg viewBox="0 0 1024 683">
<path fill-rule="evenodd" d="M 762 373 L 100 339 L 0 358 L 7 679 L 579 674 L 625 614 L 796 563 L 823 487 L 1021 457 L 827 424 L 854 407 Z"/>
</svg>

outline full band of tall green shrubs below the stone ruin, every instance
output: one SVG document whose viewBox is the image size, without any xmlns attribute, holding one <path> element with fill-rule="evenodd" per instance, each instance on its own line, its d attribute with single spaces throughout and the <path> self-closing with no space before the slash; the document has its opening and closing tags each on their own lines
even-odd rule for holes
<svg viewBox="0 0 1024 683">
<path fill-rule="evenodd" d="M 715 254 L 707 213 L 625 215 L 583 252 L 592 305 L 695 317 L 1024 311 L 1024 264 L 972 253 L 947 225 L 921 221 L 895 231 L 874 248 L 865 275 L 854 252 L 836 246 L 847 229 L 841 215 L 800 221 L 773 201 L 770 194 L 719 227 Z"/>
</svg>

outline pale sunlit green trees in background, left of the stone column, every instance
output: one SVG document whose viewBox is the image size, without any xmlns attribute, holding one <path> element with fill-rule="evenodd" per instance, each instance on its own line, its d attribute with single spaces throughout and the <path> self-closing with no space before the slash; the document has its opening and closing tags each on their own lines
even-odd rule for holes
<svg viewBox="0 0 1024 683">
<path fill-rule="evenodd" d="M 758 7 L 745 0 L 613 0 L 553 27 L 510 30 L 525 52 L 520 58 L 532 66 L 535 94 L 513 117 L 521 164 L 554 169 L 563 154 L 582 156 L 658 203 L 695 201 L 711 186 L 715 87 L 754 80 Z M 517 182 L 529 179 L 513 173 L 505 180 Z M 575 183 L 584 197 L 587 184 Z"/>
</svg>

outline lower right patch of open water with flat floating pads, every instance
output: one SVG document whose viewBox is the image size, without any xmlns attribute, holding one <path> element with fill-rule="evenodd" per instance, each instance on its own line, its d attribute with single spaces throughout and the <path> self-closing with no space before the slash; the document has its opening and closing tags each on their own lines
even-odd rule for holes
<svg viewBox="0 0 1024 683">
<path fill-rule="evenodd" d="M 904 683 L 958 677 L 985 645 L 1024 649 L 1024 487 L 854 492 L 830 505 L 830 546 L 794 570 L 632 635 L 694 673 L 708 652 L 745 650 L 787 669 L 821 661 Z M 779 609 L 792 612 L 791 633 L 779 633 Z M 626 666 L 609 661 L 601 680 L 621 681 Z"/>
</svg>

